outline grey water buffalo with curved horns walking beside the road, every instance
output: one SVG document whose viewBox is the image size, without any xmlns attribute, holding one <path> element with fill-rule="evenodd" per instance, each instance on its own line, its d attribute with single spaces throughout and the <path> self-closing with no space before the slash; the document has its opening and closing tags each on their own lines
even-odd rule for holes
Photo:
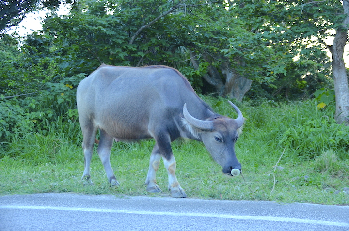
<svg viewBox="0 0 349 231">
<path fill-rule="evenodd" d="M 167 66 L 123 67 L 102 65 L 83 79 L 77 89 L 79 121 L 85 156 L 84 184 L 93 184 L 90 163 L 99 129 L 97 153 L 111 185 L 119 185 L 111 168 L 111 146 L 116 141 L 154 138 L 145 184 L 148 192 L 160 192 L 156 171 L 160 159 L 168 172 L 172 197 L 186 197 L 179 185 L 171 142 L 178 137 L 202 141 L 223 173 L 241 170 L 234 144 L 244 118 L 219 115 L 200 99 L 188 80 Z"/>
</svg>

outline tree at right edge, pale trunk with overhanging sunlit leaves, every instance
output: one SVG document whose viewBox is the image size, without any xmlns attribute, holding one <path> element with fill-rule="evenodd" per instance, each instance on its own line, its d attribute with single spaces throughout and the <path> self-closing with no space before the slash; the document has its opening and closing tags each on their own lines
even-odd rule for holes
<svg viewBox="0 0 349 231">
<path fill-rule="evenodd" d="M 348 0 L 234 0 L 230 3 L 231 9 L 236 10 L 238 18 L 247 23 L 246 26 L 250 28 L 250 31 L 260 31 L 263 34 L 270 31 L 268 39 L 270 46 L 273 48 L 286 46 L 290 51 L 290 56 L 298 56 L 300 63 L 309 63 L 308 61 L 316 56 L 323 57 L 322 53 L 326 49 L 331 51 L 332 74 L 336 94 L 335 118 L 337 123 L 348 124 L 349 90 L 343 60 L 343 50 L 348 40 L 347 33 L 349 29 Z M 332 31 L 335 31 L 335 33 L 333 34 Z M 325 39 L 332 35 L 334 35 L 333 44 L 326 44 Z M 283 52 L 283 49 L 280 51 Z M 286 73 L 289 69 L 287 63 L 290 64 L 290 67 L 294 64 L 290 60 L 287 62 L 285 62 L 285 59 L 281 60 L 285 64 L 277 65 L 277 68 L 284 67 L 284 71 L 279 69 L 279 73 L 287 74 L 285 77 L 288 78 L 290 75 Z M 319 70 L 324 70 L 327 65 L 326 62 L 319 62 L 318 60 L 316 63 Z M 315 63 L 313 62 L 313 64 Z M 313 79 L 323 79 L 320 72 L 314 73 L 313 71 L 311 75 L 305 75 L 305 77 L 307 76 L 313 76 Z M 302 77 L 304 76 L 302 75 Z M 304 78 L 301 81 L 306 80 Z"/>
</svg>

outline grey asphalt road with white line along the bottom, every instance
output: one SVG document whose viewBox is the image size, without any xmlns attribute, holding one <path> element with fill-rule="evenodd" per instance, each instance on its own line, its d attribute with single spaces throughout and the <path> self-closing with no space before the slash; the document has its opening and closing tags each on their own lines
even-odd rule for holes
<svg viewBox="0 0 349 231">
<path fill-rule="evenodd" d="M 47 193 L 0 197 L 0 231 L 349 231 L 349 206 Z"/>
</svg>

